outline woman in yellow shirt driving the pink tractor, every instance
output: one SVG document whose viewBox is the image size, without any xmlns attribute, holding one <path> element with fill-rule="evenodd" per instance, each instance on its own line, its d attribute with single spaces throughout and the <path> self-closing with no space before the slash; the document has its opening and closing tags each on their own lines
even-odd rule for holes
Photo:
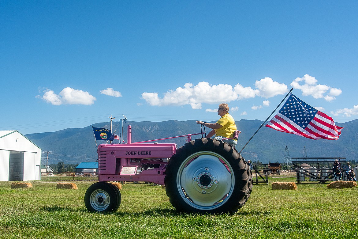
<svg viewBox="0 0 358 239">
<path fill-rule="evenodd" d="M 219 104 L 218 115 L 221 117 L 216 123 L 206 123 L 204 121 L 196 121 L 197 124 L 204 125 L 211 130 L 206 137 L 214 138 L 214 139 L 224 139 L 224 138 L 233 138 L 234 132 L 237 130 L 235 120 L 229 115 L 229 106 L 226 103 Z M 227 143 L 233 144 L 234 146 L 237 144 L 236 139 L 227 139 Z"/>
</svg>

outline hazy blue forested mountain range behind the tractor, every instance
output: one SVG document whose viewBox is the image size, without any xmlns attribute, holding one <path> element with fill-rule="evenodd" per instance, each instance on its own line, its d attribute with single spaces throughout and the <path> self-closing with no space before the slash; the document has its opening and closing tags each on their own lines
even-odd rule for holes
<svg viewBox="0 0 358 239">
<path fill-rule="evenodd" d="M 208 123 L 214 123 L 214 121 Z M 261 120 L 236 121 L 238 130 L 242 132 L 236 145 L 238 151 L 244 147 L 262 123 Z M 196 124 L 194 120 L 127 121 L 124 123 L 125 141 L 127 141 L 128 125 L 132 127 L 132 142 L 200 133 L 200 125 Z M 305 146 L 307 157 L 345 157 L 347 160 L 356 160 L 358 158 L 358 119 L 342 124 L 337 123 L 337 125 L 344 127 L 338 140 L 307 139 L 263 126 L 241 154 L 246 160 L 250 159 L 251 161 L 284 162 L 286 146 L 290 157 L 304 157 Z M 42 150 L 52 152 L 48 156 L 49 164 L 59 161 L 63 161 L 65 164 L 96 162 L 96 143 L 98 145 L 106 143 L 106 141 L 97 140 L 96 142 L 92 127 L 110 129 L 110 123 L 97 123 L 84 128 L 68 128 L 56 132 L 26 134 L 25 136 Z M 206 130 L 209 132 L 211 129 L 206 128 Z M 112 132 L 120 134 L 118 121 L 112 122 Z M 199 137 L 201 135 L 197 135 L 193 139 Z M 185 139 L 185 137 L 180 137 L 160 140 L 158 143 L 176 143 L 178 147 L 181 147 L 186 143 Z M 114 140 L 112 143 L 119 143 L 119 141 Z"/>
</svg>

